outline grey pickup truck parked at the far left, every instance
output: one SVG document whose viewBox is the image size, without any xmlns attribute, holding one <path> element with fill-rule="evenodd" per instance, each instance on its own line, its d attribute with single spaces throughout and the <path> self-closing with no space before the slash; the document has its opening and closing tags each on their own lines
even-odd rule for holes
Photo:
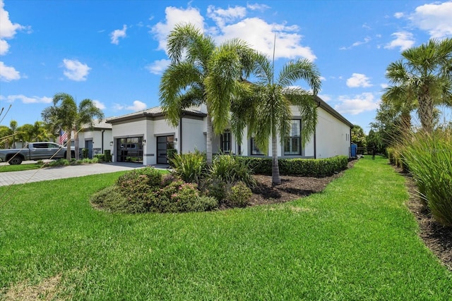
<svg viewBox="0 0 452 301">
<path fill-rule="evenodd" d="M 71 147 L 71 157 L 76 154 Z M 54 142 L 29 142 L 23 149 L 0 149 L 0 161 L 21 164 L 25 160 L 66 158 L 66 147 Z"/>
</svg>

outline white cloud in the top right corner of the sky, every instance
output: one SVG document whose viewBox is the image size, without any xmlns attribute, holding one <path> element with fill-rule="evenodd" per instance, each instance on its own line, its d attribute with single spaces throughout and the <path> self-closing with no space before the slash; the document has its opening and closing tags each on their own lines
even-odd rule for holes
<svg viewBox="0 0 452 301">
<path fill-rule="evenodd" d="M 417 6 L 409 17 L 421 30 L 429 32 L 432 38 L 452 35 L 452 1 Z"/>
</svg>

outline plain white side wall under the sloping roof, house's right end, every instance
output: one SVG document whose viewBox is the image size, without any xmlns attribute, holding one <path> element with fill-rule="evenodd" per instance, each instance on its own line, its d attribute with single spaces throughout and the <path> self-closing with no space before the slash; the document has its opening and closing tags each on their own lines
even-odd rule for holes
<svg viewBox="0 0 452 301">
<path fill-rule="evenodd" d="M 350 152 L 350 127 L 323 109 L 318 109 L 316 158 L 345 155 Z"/>
</svg>

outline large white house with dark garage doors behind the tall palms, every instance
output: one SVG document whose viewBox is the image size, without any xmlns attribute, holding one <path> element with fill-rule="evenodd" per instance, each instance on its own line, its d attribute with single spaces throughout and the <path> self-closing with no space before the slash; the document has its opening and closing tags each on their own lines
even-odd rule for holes
<svg viewBox="0 0 452 301">
<path fill-rule="evenodd" d="M 316 133 L 307 145 L 301 147 L 302 120 L 295 106 L 292 107 L 292 128 L 278 149 L 283 158 L 328 158 L 350 156 L 350 133 L 352 123 L 331 106 L 316 97 L 319 104 Z M 178 153 L 206 151 L 206 107 L 186 109 L 177 127 L 165 120 L 160 106 L 145 111 L 108 118 L 112 125 L 113 160 L 133 161 L 143 165 L 167 164 L 167 149 Z M 270 139 L 270 137 L 269 137 Z M 278 141 L 280 137 L 278 137 Z M 268 154 L 271 154 L 269 143 Z M 244 135 L 238 142 L 230 130 L 212 139 L 213 153 L 239 154 L 242 156 L 263 156 L 254 140 Z"/>
</svg>

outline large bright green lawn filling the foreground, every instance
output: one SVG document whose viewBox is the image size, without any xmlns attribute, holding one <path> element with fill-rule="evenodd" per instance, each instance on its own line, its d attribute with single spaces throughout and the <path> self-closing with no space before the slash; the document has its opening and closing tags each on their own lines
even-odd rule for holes
<svg viewBox="0 0 452 301">
<path fill-rule="evenodd" d="M 74 300 L 450 298 L 452 273 L 418 237 L 404 178 L 385 159 L 360 160 L 322 193 L 285 204 L 92 209 L 90 195 L 120 174 L 14 192 L 0 208 L 0 291 L 61 275 L 57 297 Z"/>
</svg>

